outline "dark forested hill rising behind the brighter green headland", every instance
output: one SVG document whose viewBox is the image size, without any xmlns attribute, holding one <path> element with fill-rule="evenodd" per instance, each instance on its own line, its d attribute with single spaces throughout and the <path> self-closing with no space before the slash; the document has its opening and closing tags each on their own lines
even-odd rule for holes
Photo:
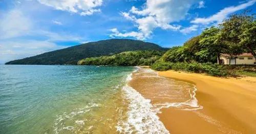
<svg viewBox="0 0 256 134">
<path fill-rule="evenodd" d="M 88 57 L 108 56 L 136 50 L 164 51 L 166 48 L 162 48 L 155 43 L 140 40 L 108 39 L 13 60 L 6 64 L 77 64 L 78 60 Z"/>
</svg>

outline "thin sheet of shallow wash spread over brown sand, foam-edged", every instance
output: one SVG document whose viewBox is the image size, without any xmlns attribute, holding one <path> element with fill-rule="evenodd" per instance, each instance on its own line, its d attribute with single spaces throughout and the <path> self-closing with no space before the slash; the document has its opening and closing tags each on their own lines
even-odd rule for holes
<svg viewBox="0 0 256 134">
<path fill-rule="evenodd" d="M 130 85 L 144 98 L 151 100 L 156 112 L 163 107 L 181 110 L 203 108 L 198 104 L 195 85 L 160 77 L 157 72 L 150 69 L 139 69 L 134 72 Z"/>
</svg>

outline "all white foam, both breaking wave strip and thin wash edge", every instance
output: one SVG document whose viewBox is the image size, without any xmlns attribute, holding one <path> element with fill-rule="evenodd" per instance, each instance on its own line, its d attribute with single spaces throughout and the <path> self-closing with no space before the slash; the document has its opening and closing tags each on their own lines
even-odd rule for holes
<svg viewBox="0 0 256 134">
<path fill-rule="evenodd" d="M 137 72 L 141 68 L 136 67 Z M 151 69 L 142 69 L 140 73 L 154 73 L 156 76 L 149 77 L 161 77 L 157 72 Z M 132 80 L 132 74 L 127 75 L 126 82 Z M 143 76 L 144 77 L 144 76 Z M 148 76 L 145 76 L 148 77 Z M 165 77 L 161 77 L 167 79 Z M 185 82 L 187 83 L 187 82 Z M 164 107 L 177 107 L 181 110 L 197 110 L 203 108 L 198 104 L 196 98 L 197 88 L 194 85 L 193 88 L 188 90 L 190 99 L 184 102 L 177 103 L 163 103 L 163 104 L 151 104 L 151 100 L 145 99 L 139 92 L 129 85 L 123 86 L 122 90 L 125 93 L 125 97 L 129 100 L 129 106 L 127 111 L 127 119 L 120 120 L 116 126 L 120 133 L 169 133 L 164 127 L 163 123 L 159 121 L 159 117 L 156 115 L 160 113 L 160 109 Z"/>
</svg>

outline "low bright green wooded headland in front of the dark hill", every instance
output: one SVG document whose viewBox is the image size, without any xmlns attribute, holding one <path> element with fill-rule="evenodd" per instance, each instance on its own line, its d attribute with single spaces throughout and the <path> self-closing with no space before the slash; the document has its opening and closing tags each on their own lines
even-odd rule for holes
<svg viewBox="0 0 256 134">
<path fill-rule="evenodd" d="M 151 65 L 158 60 L 164 52 L 160 51 L 131 51 L 122 52 L 112 56 L 92 57 L 79 60 L 79 65 Z"/>
</svg>

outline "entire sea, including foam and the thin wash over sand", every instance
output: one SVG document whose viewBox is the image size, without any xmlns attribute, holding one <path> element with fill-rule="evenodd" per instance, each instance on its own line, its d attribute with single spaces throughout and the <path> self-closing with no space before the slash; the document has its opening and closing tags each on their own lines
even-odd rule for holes
<svg viewBox="0 0 256 134">
<path fill-rule="evenodd" d="M 0 133 L 169 133 L 160 109 L 200 108 L 195 91 L 132 66 L 0 65 Z"/>
</svg>

